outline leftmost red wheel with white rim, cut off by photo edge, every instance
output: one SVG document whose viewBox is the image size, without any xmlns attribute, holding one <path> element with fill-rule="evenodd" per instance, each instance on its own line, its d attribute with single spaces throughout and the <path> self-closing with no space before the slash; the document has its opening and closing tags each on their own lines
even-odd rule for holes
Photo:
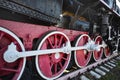
<svg viewBox="0 0 120 80">
<path fill-rule="evenodd" d="M 0 27 L 0 80 L 19 80 L 25 68 L 26 58 L 18 59 L 12 63 L 4 61 L 4 52 L 12 42 L 18 51 L 25 51 L 22 42 L 14 33 Z"/>
</svg>

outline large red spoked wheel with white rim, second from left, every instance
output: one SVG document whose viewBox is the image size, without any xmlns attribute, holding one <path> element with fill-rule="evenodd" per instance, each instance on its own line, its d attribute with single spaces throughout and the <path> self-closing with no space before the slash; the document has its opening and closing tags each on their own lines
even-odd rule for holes
<svg viewBox="0 0 120 80">
<path fill-rule="evenodd" d="M 68 37 L 59 31 L 48 32 L 43 35 L 36 44 L 37 50 L 61 48 Z M 53 53 L 48 55 L 36 56 L 35 65 L 39 75 L 44 79 L 55 79 L 59 77 L 67 68 L 71 54 Z"/>
</svg>

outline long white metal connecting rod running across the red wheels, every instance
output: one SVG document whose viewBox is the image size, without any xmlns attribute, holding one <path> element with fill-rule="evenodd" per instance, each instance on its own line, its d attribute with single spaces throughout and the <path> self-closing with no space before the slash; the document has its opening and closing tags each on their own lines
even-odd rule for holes
<svg viewBox="0 0 120 80">
<path fill-rule="evenodd" d="M 8 46 L 8 50 L 4 53 L 3 58 L 6 62 L 11 63 L 23 57 L 53 54 L 53 53 L 60 53 L 60 52 L 65 53 L 65 54 L 70 54 L 71 51 L 83 50 L 83 49 L 87 51 L 94 51 L 94 50 L 100 51 L 101 47 L 103 48 L 106 47 L 104 42 L 102 45 L 97 45 L 94 43 L 94 41 L 89 40 L 88 43 L 86 43 L 84 46 L 71 47 L 70 42 L 67 42 L 66 45 L 63 45 L 63 47 L 61 48 L 19 52 L 16 49 L 16 45 L 14 43 L 11 43 Z"/>
</svg>

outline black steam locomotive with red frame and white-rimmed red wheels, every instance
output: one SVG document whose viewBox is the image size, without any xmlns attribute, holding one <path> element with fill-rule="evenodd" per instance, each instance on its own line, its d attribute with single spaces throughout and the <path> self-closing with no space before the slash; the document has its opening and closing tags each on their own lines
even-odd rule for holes
<svg viewBox="0 0 120 80">
<path fill-rule="evenodd" d="M 119 3 L 0 0 L 0 80 L 56 79 L 118 53 Z"/>
</svg>

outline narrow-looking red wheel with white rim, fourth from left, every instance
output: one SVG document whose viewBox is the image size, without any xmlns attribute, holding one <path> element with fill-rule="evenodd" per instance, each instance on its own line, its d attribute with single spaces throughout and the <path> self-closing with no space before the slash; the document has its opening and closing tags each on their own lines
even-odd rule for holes
<svg viewBox="0 0 120 80">
<path fill-rule="evenodd" d="M 95 44 L 102 44 L 102 37 L 97 36 L 95 38 Z M 93 51 L 93 58 L 95 61 L 99 61 L 102 58 L 103 48 L 100 48 L 100 51 Z"/>
</svg>

